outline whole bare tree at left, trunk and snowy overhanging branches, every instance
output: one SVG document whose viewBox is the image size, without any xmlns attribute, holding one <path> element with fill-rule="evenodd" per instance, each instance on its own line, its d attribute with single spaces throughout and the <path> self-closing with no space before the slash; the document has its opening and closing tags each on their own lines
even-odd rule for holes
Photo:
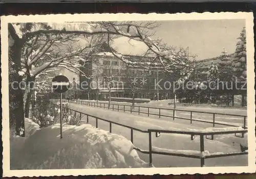
<svg viewBox="0 0 256 179">
<path fill-rule="evenodd" d="M 15 66 L 15 75 L 24 73 L 24 80 L 26 84 L 30 84 L 30 81 L 34 81 L 35 77 L 44 72 L 47 69 L 55 68 L 56 66 L 62 66 L 69 70 L 75 69 L 74 72 L 80 71 L 82 67 L 77 63 L 77 58 L 82 52 L 86 51 L 88 58 L 92 57 L 95 53 L 97 43 L 88 43 L 87 46 L 81 47 L 78 50 L 70 50 L 65 54 L 58 53 L 59 50 L 54 51 L 52 47 L 63 45 L 62 43 L 72 41 L 77 36 L 86 36 L 89 41 L 93 39 L 93 42 L 104 41 L 119 36 L 125 36 L 131 39 L 142 41 L 148 47 L 148 52 L 145 55 L 153 53 L 156 58 L 160 59 L 164 70 L 171 72 L 175 69 L 182 69 L 181 67 L 186 65 L 186 60 L 183 59 L 184 53 L 178 51 L 178 53 L 172 53 L 165 44 L 161 44 L 161 40 L 152 40 L 150 36 L 154 33 L 154 30 L 158 25 L 155 22 L 87 22 L 87 23 L 16 23 L 9 24 L 8 30 L 13 40 L 13 49 L 9 48 L 13 54 L 13 61 Z M 67 40 L 67 41 L 66 41 Z M 109 41 L 109 40 L 108 40 Z M 55 46 L 56 45 L 56 46 Z M 95 45 L 95 46 L 94 46 Z M 96 51 L 96 50 L 95 50 Z M 170 54 L 168 54 L 170 53 Z M 113 54 L 125 63 L 129 61 L 124 59 L 122 54 Z M 84 58 L 83 58 L 84 59 Z M 80 59 L 80 60 L 83 60 Z M 85 59 L 86 60 L 86 59 Z M 150 63 L 142 64 L 144 68 L 150 68 L 150 64 L 154 63 L 154 59 Z M 140 65 L 140 62 L 134 63 L 134 65 Z M 178 68 L 178 66 L 180 68 Z M 90 78 L 90 77 L 89 77 Z M 21 77 L 16 78 L 17 81 L 21 81 Z M 33 85 L 33 83 L 31 83 Z M 14 96 L 13 101 L 20 104 L 18 108 L 20 111 L 26 110 L 26 117 L 28 117 L 28 109 L 30 103 L 31 93 L 29 88 L 33 86 L 27 85 L 25 93 L 18 93 L 19 96 Z M 17 92 L 17 91 L 16 91 Z M 22 92 L 20 89 L 19 92 Z M 23 100 L 25 99 L 25 105 Z M 28 99 L 28 100 L 27 100 Z M 24 108 L 24 107 L 25 108 Z M 13 118 L 16 118 L 16 133 L 19 135 L 20 129 L 24 131 L 24 117 L 20 117 L 19 114 L 15 114 Z M 18 129 L 19 128 L 19 129 Z"/>
</svg>

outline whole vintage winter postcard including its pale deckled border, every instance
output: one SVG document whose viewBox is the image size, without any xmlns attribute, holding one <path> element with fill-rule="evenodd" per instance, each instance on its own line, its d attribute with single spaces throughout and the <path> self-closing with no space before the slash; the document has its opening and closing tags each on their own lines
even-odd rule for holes
<svg viewBox="0 0 256 179">
<path fill-rule="evenodd" d="M 4 176 L 255 172 L 251 12 L 1 17 Z"/>
</svg>

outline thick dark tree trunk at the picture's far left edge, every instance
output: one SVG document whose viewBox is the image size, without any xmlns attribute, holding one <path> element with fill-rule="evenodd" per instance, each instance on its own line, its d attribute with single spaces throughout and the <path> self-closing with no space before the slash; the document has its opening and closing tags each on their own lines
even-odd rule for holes
<svg viewBox="0 0 256 179">
<path fill-rule="evenodd" d="M 20 39 L 13 26 L 8 24 L 9 32 L 9 121 L 10 127 L 15 128 L 15 135 L 25 137 L 24 124 L 24 103 L 23 90 L 17 83 L 22 81 L 22 76 L 19 76 L 18 71 L 21 67 L 21 51 L 23 40 Z M 15 82 L 12 84 L 12 82 Z M 17 83 L 16 83 L 17 82 Z"/>
</svg>

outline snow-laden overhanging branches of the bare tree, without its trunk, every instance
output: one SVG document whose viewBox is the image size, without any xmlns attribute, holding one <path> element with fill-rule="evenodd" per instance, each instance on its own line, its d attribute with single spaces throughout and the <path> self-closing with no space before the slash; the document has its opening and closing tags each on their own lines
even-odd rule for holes
<svg viewBox="0 0 256 179">
<path fill-rule="evenodd" d="M 57 65 L 61 65 L 63 68 L 71 70 L 72 72 L 79 72 L 79 66 L 73 63 L 67 63 L 74 56 L 79 56 L 79 53 L 70 53 L 66 56 L 59 56 L 61 49 L 57 46 L 57 43 L 63 44 L 67 41 L 75 41 L 74 37 L 86 37 L 88 41 L 94 40 L 94 44 L 88 42 L 87 48 L 82 48 L 82 51 L 92 51 L 93 46 L 99 44 L 99 42 L 106 41 L 106 35 L 108 39 L 117 38 L 120 36 L 129 37 L 146 44 L 148 51 L 146 55 L 155 56 L 154 59 L 146 63 L 130 62 L 125 59 L 123 54 L 112 51 L 113 55 L 125 63 L 131 63 L 136 66 L 147 66 L 151 68 L 151 64 L 156 60 L 163 65 L 163 69 L 167 72 L 173 72 L 177 69 L 181 70 L 184 65 L 188 64 L 188 58 L 194 56 L 188 56 L 186 50 L 174 49 L 167 47 L 162 43 L 162 40 L 152 40 L 151 36 L 154 35 L 154 30 L 158 25 L 155 22 L 133 22 L 133 21 L 100 21 L 100 22 L 86 22 L 86 23 L 16 23 L 13 27 L 17 35 L 24 39 L 24 58 L 23 66 L 27 69 L 27 75 L 36 76 L 40 72 L 48 68 L 54 68 Z M 55 48 L 54 52 L 49 52 Z M 89 50 L 90 48 L 90 50 Z M 57 49 L 57 50 L 56 50 Z M 95 49 L 94 49 L 95 50 Z M 58 52 L 57 52 L 58 51 Z M 80 53 L 82 53 L 80 51 Z M 85 55 L 92 55 L 93 53 L 86 52 Z M 97 51 L 97 49 L 95 50 Z M 46 60 L 48 59 L 48 60 Z M 84 59 L 84 58 L 82 58 Z M 38 60 L 44 60 L 44 64 L 40 66 L 35 65 Z M 65 62 L 63 62 L 65 61 Z M 34 65 L 33 70 L 32 65 Z"/>
</svg>

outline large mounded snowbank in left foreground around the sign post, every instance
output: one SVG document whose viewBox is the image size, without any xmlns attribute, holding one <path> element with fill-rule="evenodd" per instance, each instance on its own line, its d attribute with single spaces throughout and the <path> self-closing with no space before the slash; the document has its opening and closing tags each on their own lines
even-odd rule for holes
<svg viewBox="0 0 256 179">
<path fill-rule="evenodd" d="M 11 169 L 79 169 L 79 168 L 131 168 L 147 167 L 139 159 L 131 141 L 90 124 L 71 126 L 64 124 L 60 139 L 60 126 L 38 129 L 29 124 L 26 140 L 11 156 Z M 30 129 L 30 130 L 29 130 Z M 36 129 L 36 130 L 35 130 Z M 33 131 L 33 132 L 32 132 Z M 12 143 L 13 141 L 11 141 Z M 15 144 L 12 143 L 13 149 Z M 20 155 L 22 153 L 22 155 Z"/>
</svg>

